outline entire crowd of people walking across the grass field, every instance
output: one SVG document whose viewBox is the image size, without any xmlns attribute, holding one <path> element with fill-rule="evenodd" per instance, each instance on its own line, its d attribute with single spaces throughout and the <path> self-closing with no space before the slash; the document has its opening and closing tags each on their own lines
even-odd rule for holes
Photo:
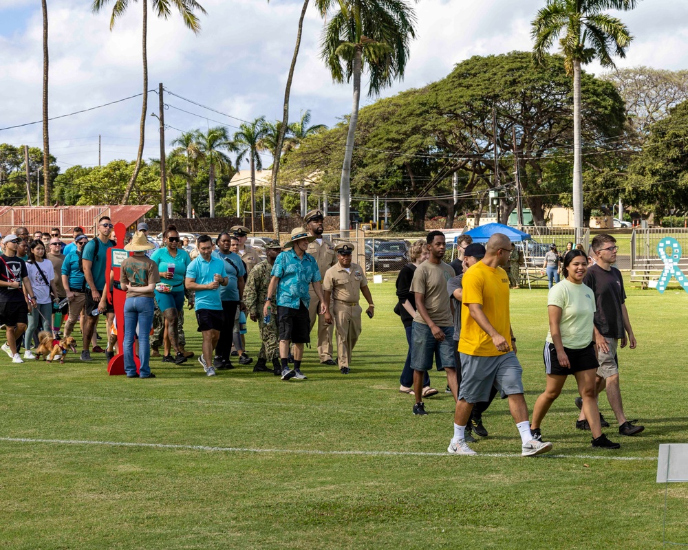
<svg viewBox="0 0 688 550">
<path fill-rule="evenodd" d="M 352 262 L 355 247 L 323 237 L 321 210 L 312 210 L 304 226 L 285 242 L 266 243 L 265 259 L 246 245 L 250 231 L 237 225 L 213 241 L 208 235 L 184 245 L 169 225 L 162 245 L 148 236 L 146 223 L 127 236 L 131 252 L 115 280 L 107 272 L 109 249 L 115 246 L 109 217 L 98 220 L 95 236 L 74 228 L 65 245 L 57 228 L 35 232 L 19 227 L 1 239 L 0 323 L 2 345 L 12 362 L 35 358 L 32 348 L 49 333 L 56 342 L 69 338 L 79 323 L 80 360 L 91 353 L 116 354 L 113 289 L 125 293 L 123 350 L 127 377 L 153 378 L 151 357 L 182 364 L 193 357 L 185 349 L 184 303 L 195 311 L 202 336 L 198 362 L 207 376 L 252 364 L 246 353 L 246 318 L 258 323 L 261 349 L 255 372 L 272 372 L 281 380 L 305 380 L 301 371 L 304 344 L 317 327 L 317 353 L 322 364 L 350 373 L 352 351 L 361 333 L 361 294 L 367 316 L 374 316 L 365 272 Z M 514 248 L 504 234 L 485 244 L 458 239 L 459 257 L 444 263 L 444 234 L 430 232 L 410 248 L 410 262 L 396 281 L 398 304 L 408 342 L 399 391 L 414 397 L 413 414 L 427 415 L 424 398 L 436 395 L 429 371 L 433 363 L 447 375 L 447 393 L 455 400 L 453 437 L 448 451 L 475 454 L 469 446 L 488 431 L 483 415 L 497 394 L 508 406 L 522 440 L 522 454 L 548 452 L 542 424 L 566 377 L 576 378 L 581 409 L 575 427 L 592 432 L 595 448 L 619 448 L 602 428 L 610 426 L 599 412 L 599 393 L 606 391 L 619 434 L 643 431 L 625 417 L 619 386 L 617 349 L 636 347 L 621 272 L 614 267 L 618 248 L 612 236 L 594 237 L 590 256 L 572 243 L 561 256 L 552 250 L 544 269 L 554 267 L 563 280 L 550 276 L 549 330 L 544 338 L 546 389 L 535 402 L 532 419 L 524 399 L 517 335 L 510 323 L 510 274 Z M 189 252 L 191 250 L 191 252 Z M 556 256 L 556 258 L 554 257 Z M 550 266 L 550 260 L 555 265 Z M 517 260 L 516 260 L 517 261 Z M 98 319 L 105 316 L 105 333 Z M 64 327 L 63 325 L 64 321 Z M 333 329 L 337 354 L 333 356 Z M 151 336 L 152 335 L 152 336 Z M 545 336 L 545 335 L 543 335 Z M 100 342 L 105 344 L 105 349 Z M 21 354 L 21 347 L 25 349 Z M 138 350 L 138 351 L 135 351 Z M 160 351 L 162 350 L 162 353 Z M 138 353 L 137 369 L 134 354 Z"/>
</svg>

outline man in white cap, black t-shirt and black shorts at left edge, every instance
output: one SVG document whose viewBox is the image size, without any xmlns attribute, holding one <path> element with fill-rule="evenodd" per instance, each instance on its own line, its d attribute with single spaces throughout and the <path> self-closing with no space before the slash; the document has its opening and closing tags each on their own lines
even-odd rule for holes
<svg viewBox="0 0 688 550">
<path fill-rule="evenodd" d="M 0 254 L 0 323 L 7 330 L 7 342 L 2 350 L 13 363 L 23 363 L 17 353 L 17 339 L 26 330 L 29 307 L 35 305 L 34 291 L 26 272 L 26 264 L 17 258 L 16 235 L 6 236 L 2 242 L 5 253 Z M 22 289 L 23 288 L 23 289 Z"/>
</svg>

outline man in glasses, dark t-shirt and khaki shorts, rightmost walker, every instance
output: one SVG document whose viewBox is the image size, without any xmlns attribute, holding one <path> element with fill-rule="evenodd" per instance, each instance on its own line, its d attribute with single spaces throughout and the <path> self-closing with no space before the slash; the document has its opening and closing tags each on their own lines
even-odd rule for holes
<svg viewBox="0 0 688 550">
<path fill-rule="evenodd" d="M 626 310 L 623 277 L 621 272 L 614 267 L 616 251 L 619 250 L 615 243 L 616 239 L 607 234 L 596 235 L 592 239 L 591 248 L 596 264 L 588 268 L 583 283 L 594 292 L 597 307 L 594 317 L 594 340 L 599 363 L 596 393 L 599 395 L 606 386 L 607 399 L 616 415 L 616 421 L 619 422 L 619 433 L 635 435 L 642 432 L 645 427 L 635 426 L 635 421 L 628 421 L 623 414 L 619 387 L 619 358 L 616 355 L 616 348 L 621 340 L 620 347 L 626 347 L 628 344 L 630 349 L 635 349 L 636 337 Z M 603 420 L 601 415 L 600 420 Z M 576 422 L 576 428 L 590 430 L 582 411 Z"/>
</svg>

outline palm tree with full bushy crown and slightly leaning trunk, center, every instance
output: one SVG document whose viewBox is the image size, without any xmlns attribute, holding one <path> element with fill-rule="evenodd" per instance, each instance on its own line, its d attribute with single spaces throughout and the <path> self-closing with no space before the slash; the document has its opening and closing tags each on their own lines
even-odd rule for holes
<svg viewBox="0 0 688 550">
<path fill-rule="evenodd" d="M 354 98 L 339 184 L 339 230 L 349 231 L 351 159 L 361 98 L 361 73 L 370 76 L 368 95 L 379 94 L 395 78 L 403 78 L 409 42 L 415 38 L 416 14 L 406 0 L 316 0 L 321 16 L 331 15 L 321 40 L 321 57 L 336 83 L 354 83 Z"/>
</svg>

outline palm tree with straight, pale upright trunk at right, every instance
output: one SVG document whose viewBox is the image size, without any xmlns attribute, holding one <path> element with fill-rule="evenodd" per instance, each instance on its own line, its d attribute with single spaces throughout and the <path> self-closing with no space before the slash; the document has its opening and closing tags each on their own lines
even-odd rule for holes
<svg viewBox="0 0 688 550">
<path fill-rule="evenodd" d="M 596 59 L 614 67 L 613 54 L 623 58 L 633 37 L 617 17 L 603 10 L 632 10 L 636 0 L 548 0 L 533 21 L 533 58 L 544 63 L 547 50 L 561 35 L 559 44 L 566 72 L 573 76 L 573 218 L 583 228 L 583 170 L 581 166 L 581 65 Z M 579 239 L 579 236 L 577 236 Z"/>
</svg>

